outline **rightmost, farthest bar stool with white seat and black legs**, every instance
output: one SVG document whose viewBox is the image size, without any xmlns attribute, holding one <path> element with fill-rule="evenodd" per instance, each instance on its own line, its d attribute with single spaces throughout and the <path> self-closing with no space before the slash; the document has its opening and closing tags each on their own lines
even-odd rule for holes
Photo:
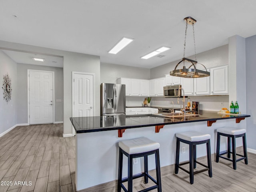
<svg viewBox="0 0 256 192">
<path fill-rule="evenodd" d="M 220 154 L 220 136 L 228 137 L 228 150 Z M 244 155 L 236 154 L 236 138 L 242 137 L 243 138 L 243 148 L 244 148 Z M 232 138 L 232 152 L 230 152 L 230 138 Z M 222 155 L 228 154 L 228 158 L 223 157 Z M 230 159 L 230 154 L 232 154 L 232 159 Z M 242 157 L 236 159 L 236 155 Z M 223 158 L 233 162 L 233 169 L 236 170 L 236 162 L 243 160 L 244 163 L 248 164 L 248 157 L 247 157 L 247 149 L 246 149 L 246 130 L 233 128 L 233 127 L 222 127 L 217 129 L 217 148 L 216 148 L 216 162 L 219 162 L 219 158 Z"/>
</svg>

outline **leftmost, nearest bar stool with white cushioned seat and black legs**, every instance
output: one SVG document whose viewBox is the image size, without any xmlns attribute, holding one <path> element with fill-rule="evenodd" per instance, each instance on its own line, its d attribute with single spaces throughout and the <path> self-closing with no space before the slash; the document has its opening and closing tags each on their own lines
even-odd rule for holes
<svg viewBox="0 0 256 192">
<path fill-rule="evenodd" d="M 156 185 L 140 192 L 147 192 L 153 189 L 162 192 L 161 186 L 161 174 L 160 174 L 160 160 L 159 160 L 159 148 L 160 144 L 154 142 L 146 137 L 140 137 L 136 139 L 123 140 L 118 143 L 119 146 L 119 166 L 118 166 L 118 187 L 117 191 L 121 192 L 121 188 L 126 192 L 132 192 L 132 179 L 136 179 L 144 176 L 145 183 L 148 183 L 150 178 Z M 128 157 L 128 178 L 122 179 L 122 167 L 123 167 L 123 154 Z M 148 155 L 155 154 L 156 158 L 156 180 L 148 174 Z M 132 159 L 144 157 L 144 173 L 132 175 Z M 122 184 L 128 181 L 128 190 Z"/>
</svg>

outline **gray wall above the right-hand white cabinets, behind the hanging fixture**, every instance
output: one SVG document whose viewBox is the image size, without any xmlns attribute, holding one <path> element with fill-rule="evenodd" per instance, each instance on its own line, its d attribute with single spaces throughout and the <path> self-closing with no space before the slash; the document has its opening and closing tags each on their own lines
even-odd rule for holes
<svg viewBox="0 0 256 192">
<path fill-rule="evenodd" d="M 189 56 L 187 58 L 190 58 L 192 60 L 195 59 L 194 56 Z M 197 58 L 197 61 L 203 64 L 206 68 L 211 68 L 211 67 L 221 66 L 221 65 L 228 65 L 228 45 L 220 46 L 220 47 L 196 54 L 196 58 Z M 180 60 L 182 60 L 182 55 L 180 55 Z M 164 74 L 169 74 L 170 71 L 174 70 L 176 64 L 178 64 L 180 60 L 152 68 L 150 70 L 150 78 L 154 79 L 158 77 L 163 77 Z M 182 66 L 183 66 L 182 64 L 179 65 L 180 68 L 182 68 Z M 189 66 L 186 66 L 186 68 L 188 67 Z M 198 68 L 200 68 L 200 65 L 198 65 Z"/>
</svg>

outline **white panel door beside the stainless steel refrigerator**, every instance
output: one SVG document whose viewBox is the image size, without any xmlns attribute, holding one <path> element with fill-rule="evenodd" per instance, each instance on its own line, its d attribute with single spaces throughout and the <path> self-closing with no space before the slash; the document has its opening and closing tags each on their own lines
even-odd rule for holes
<svg viewBox="0 0 256 192">
<path fill-rule="evenodd" d="M 73 117 L 93 116 L 94 87 L 93 75 L 74 74 L 74 110 Z"/>
</svg>

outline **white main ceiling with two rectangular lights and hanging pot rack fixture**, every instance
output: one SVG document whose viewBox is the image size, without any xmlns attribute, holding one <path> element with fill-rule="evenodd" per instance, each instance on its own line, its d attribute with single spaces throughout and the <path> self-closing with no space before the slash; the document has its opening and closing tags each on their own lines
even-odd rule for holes
<svg viewBox="0 0 256 192">
<path fill-rule="evenodd" d="M 154 68 L 183 56 L 185 22 L 195 24 L 196 50 L 256 34 L 255 0 L 0 0 L 0 40 L 100 56 L 101 62 Z M 14 17 L 17 16 L 17 17 Z M 108 50 L 133 38 L 116 55 Z M 162 58 L 140 57 L 171 47 Z M 186 56 L 194 54 L 188 26 Z M 200 58 L 198 58 L 200 62 Z"/>
</svg>

